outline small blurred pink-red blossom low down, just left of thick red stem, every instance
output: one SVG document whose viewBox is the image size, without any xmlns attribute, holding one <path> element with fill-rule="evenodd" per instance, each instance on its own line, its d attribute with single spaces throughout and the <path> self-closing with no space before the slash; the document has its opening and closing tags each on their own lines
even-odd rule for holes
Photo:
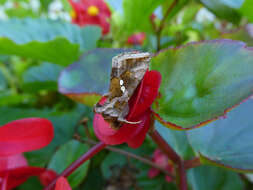
<svg viewBox="0 0 253 190">
<path fill-rule="evenodd" d="M 173 165 L 172 163 L 169 162 L 169 159 L 166 154 L 164 154 L 162 151 L 159 149 L 156 149 L 152 161 L 156 163 L 157 165 L 161 166 L 162 168 L 166 169 L 168 172 L 172 173 L 173 172 Z M 159 175 L 160 171 L 156 168 L 151 168 L 148 171 L 148 177 L 149 178 L 154 178 L 157 175 Z M 170 176 L 165 176 L 165 179 L 167 182 L 171 182 L 172 178 Z"/>
</svg>

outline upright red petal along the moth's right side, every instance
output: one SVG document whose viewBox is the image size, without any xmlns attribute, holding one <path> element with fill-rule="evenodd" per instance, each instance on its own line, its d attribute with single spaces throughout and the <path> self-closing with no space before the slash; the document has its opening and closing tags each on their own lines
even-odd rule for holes
<svg viewBox="0 0 253 190">
<path fill-rule="evenodd" d="M 139 89 L 130 99 L 131 111 L 127 117 L 129 120 L 143 114 L 152 105 L 158 95 L 161 79 L 161 74 L 158 71 L 145 73 Z"/>
</svg>

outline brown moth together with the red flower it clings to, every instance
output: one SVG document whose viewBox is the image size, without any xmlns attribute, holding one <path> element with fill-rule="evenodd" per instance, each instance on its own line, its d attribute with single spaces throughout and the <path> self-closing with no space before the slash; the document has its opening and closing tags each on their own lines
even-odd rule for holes
<svg viewBox="0 0 253 190">
<path fill-rule="evenodd" d="M 139 147 L 152 123 L 150 106 L 158 95 L 161 75 L 148 71 L 151 55 L 130 52 L 112 59 L 109 93 L 94 107 L 94 129 L 106 144 Z"/>
</svg>

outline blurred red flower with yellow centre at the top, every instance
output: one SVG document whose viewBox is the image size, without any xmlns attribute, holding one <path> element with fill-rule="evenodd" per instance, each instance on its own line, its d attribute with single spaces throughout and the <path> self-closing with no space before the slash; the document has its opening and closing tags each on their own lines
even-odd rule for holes
<svg viewBox="0 0 253 190">
<path fill-rule="evenodd" d="M 74 9 L 73 23 L 79 26 L 98 25 L 102 28 L 103 34 L 109 32 L 111 11 L 104 0 L 80 0 L 79 2 L 69 0 L 69 3 Z"/>
</svg>

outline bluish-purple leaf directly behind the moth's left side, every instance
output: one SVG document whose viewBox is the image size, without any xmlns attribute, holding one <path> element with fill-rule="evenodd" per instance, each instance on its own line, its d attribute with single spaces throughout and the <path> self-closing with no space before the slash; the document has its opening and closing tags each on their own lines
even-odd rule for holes
<svg viewBox="0 0 253 190">
<path fill-rule="evenodd" d="M 112 57 L 127 49 L 95 49 L 61 73 L 59 91 L 85 105 L 93 106 L 108 92 Z M 129 51 L 129 50 L 128 50 Z"/>
</svg>

